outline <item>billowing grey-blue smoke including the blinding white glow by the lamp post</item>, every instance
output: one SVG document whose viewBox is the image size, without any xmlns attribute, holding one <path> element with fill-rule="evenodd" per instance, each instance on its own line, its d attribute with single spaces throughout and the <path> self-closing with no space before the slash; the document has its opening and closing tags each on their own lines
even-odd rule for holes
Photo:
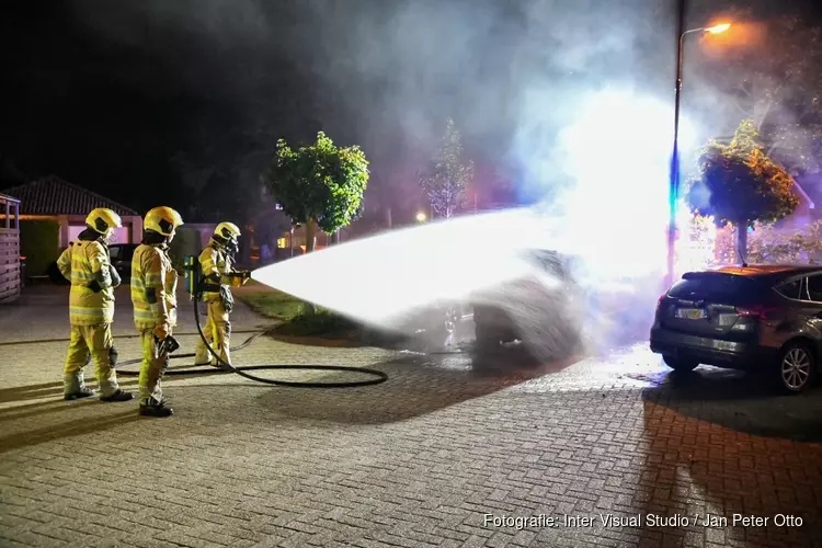
<svg viewBox="0 0 822 548">
<path fill-rule="evenodd" d="M 450 116 L 475 158 L 505 165 L 521 196 L 543 203 L 560 227 L 553 243 L 584 248 L 586 283 L 664 265 L 675 41 L 673 13 L 654 0 L 106 5 L 75 0 L 103 39 L 151 48 L 180 68 L 181 85 L 232 98 L 271 147 L 277 116 L 302 111 L 304 126 L 361 145 L 375 180 L 413 186 L 411 172 L 391 174 L 424 158 Z M 273 105 L 272 90 L 295 80 L 298 109 Z M 683 146 L 698 134 L 685 119 Z M 361 269 L 374 267 L 368 256 Z"/>
</svg>

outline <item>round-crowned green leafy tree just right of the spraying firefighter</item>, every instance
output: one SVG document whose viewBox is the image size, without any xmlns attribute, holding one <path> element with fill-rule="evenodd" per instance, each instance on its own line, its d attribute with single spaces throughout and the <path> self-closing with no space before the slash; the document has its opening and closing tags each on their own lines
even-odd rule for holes
<svg viewBox="0 0 822 548">
<path fill-rule="evenodd" d="M 320 132 L 313 144 L 297 150 L 279 139 L 263 180 L 293 222 L 305 225 L 310 252 L 316 228 L 334 233 L 361 213 L 368 176 L 359 147 L 338 148 Z"/>
</svg>

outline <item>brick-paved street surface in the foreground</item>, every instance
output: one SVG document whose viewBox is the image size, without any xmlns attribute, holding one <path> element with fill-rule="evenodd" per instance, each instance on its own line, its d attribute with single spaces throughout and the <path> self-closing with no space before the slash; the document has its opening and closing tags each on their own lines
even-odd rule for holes
<svg viewBox="0 0 822 548">
<path fill-rule="evenodd" d="M 3 329 L 33 315 L 0 308 Z M 238 329 L 264 323 L 240 315 Z M 28 340 L 48 339 L 46 324 Z M 137 356 L 134 339 L 117 344 Z M 776 398 L 703 368 L 675 381 L 643 346 L 494 375 L 459 355 L 263 336 L 236 361 L 369 365 L 390 378 L 326 390 L 170 378 L 167 420 L 137 416 L 135 402 L 62 401 L 65 342 L 0 346 L 0 546 L 822 546 L 822 392 Z M 729 524 L 606 526 L 601 513 Z M 560 523 L 517 530 L 486 514 Z M 733 526 L 733 514 L 768 524 Z"/>
</svg>

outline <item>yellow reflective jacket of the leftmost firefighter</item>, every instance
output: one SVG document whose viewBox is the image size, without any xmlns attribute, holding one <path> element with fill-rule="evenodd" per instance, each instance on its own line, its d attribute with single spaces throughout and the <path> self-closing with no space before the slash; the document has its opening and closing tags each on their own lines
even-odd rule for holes
<svg viewBox="0 0 822 548">
<path fill-rule="evenodd" d="M 114 284 L 109 250 L 99 240 L 73 242 L 57 259 L 57 267 L 71 282 L 69 322 L 96 326 L 114 321 Z"/>
</svg>

